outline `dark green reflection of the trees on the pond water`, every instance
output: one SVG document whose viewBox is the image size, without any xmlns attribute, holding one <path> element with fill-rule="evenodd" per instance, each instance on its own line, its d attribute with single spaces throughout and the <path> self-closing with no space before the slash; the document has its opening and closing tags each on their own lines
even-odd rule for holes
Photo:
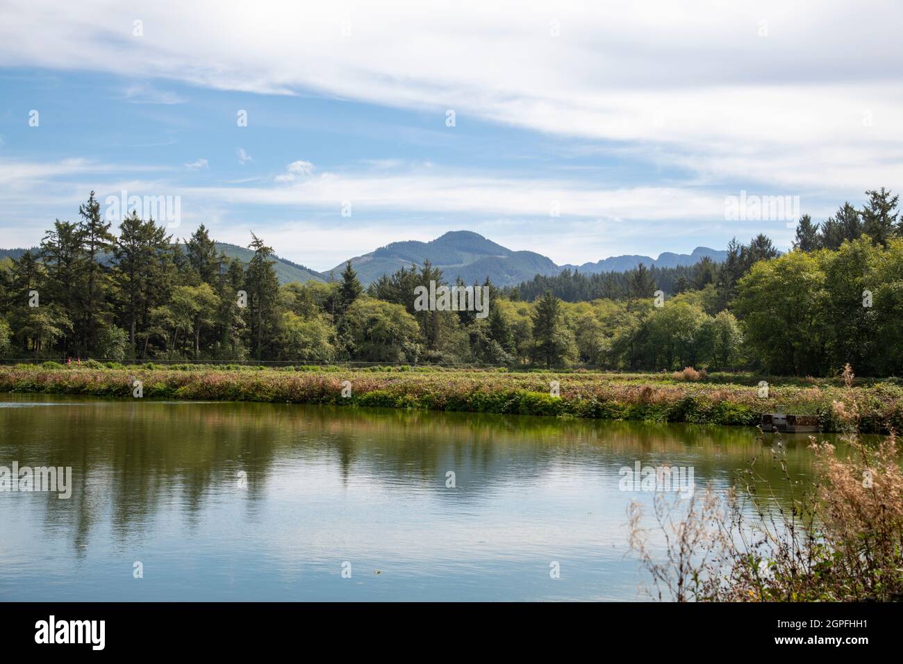
<svg viewBox="0 0 903 664">
<path fill-rule="evenodd" d="M 72 466 L 72 498 L 48 494 L 45 527 L 69 524 L 79 555 L 107 505 L 123 538 L 173 502 L 191 523 L 212 493 L 237 489 L 239 471 L 247 472 L 242 497 L 253 505 L 277 463 L 337 466 L 346 483 L 358 475 L 386 486 L 419 483 L 443 498 L 452 498 L 445 472 L 454 471 L 455 500 L 470 500 L 506 482 L 542 482 L 569 464 L 607 477 L 636 461 L 693 465 L 697 486 L 727 484 L 734 469 L 763 453 L 755 430 L 723 426 L 260 403 L 76 403 L 0 409 L 8 434 L 0 444 L 23 465 Z M 793 476 L 811 472 L 806 444 L 800 437 L 782 450 Z M 774 480 L 780 474 L 773 463 L 760 471 Z"/>
</svg>

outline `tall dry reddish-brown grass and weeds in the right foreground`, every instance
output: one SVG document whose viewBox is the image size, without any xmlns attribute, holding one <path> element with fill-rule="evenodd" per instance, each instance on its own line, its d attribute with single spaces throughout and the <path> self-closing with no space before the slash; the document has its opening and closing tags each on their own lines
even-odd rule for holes
<svg viewBox="0 0 903 664">
<path fill-rule="evenodd" d="M 852 370 L 844 377 L 852 385 Z M 889 602 L 903 600 L 903 472 L 896 435 L 865 444 L 854 400 L 833 403 L 846 424 L 845 451 L 812 438 L 817 482 L 787 474 L 789 500 L 757 471 L 754 459 L 726 495 L 654 502 L 666 556 L 649 544 L 637 503 L 630 544 L 660 599 L 713 602 Z M 689 504 L 685 504 L 685 503 Z"/>
</svg>

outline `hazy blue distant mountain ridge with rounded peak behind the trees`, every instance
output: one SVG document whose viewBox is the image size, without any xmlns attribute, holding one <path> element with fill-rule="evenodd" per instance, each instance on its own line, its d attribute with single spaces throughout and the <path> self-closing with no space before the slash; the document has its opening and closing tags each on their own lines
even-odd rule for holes
<svg viewBox="0 0 903 664">
<path fill-rule="evenodd" d="M 604 258 L 596 263 L 584 263 L 582 266 L 559 266 L 555 265 L 551 258 L 534 251 L 512 251 L 484 238 L 479 233 L 453 230 L 429 242 L 415 240 L 393 242 L 369 254 L 351 258 L 351 265 L 358 272 L 358 278 L 364 285 L 371 284 L 380 276 L 391 275 L 400 267 L 411 267 L 412 264 L 421 267 L 425 260 L 433 263 L 433 267 L 439 267 L 442 276 L 450 282 L 460 276 L 467 284 L 474 281 L 482 283 L 489 276 L 495 285 L 517 285 L 536 275 L 557 275 L 565 268 L 576 269 L 586 274 L 623 272 L 638 267 L 640 263 L 647 267 L 691 266 L 706 256 L 716 263 L 721 263 L 727 256 L 727 251 L 697 247 L 691 254 L 666 252 L 657 258 L 616 256 Z M 344 267 L 343 262 L 332 269 L 337 278 Z M 325 278 L 328 274 L 327 271 L 321 273 L 321 276 Z"/>
</svg>

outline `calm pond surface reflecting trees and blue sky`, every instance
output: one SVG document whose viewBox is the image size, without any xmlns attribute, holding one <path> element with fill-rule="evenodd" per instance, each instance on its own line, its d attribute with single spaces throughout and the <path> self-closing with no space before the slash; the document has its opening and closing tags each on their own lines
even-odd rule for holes
<svg viewBox="0 0 903 664">
<path fill-rule="evenodd" d="M 697 488 L 724 489 L 770 456 L 755 436 L 0 396 L 0 466 L 71 466 L 73 483 L 70 500 L 0 492 L 0 601 L 644 599 L 626 513 L 652 494 L 619 491 L 619 470 L 692 466 Z M 806 444 L 786 439 L 795 477 L 812 472 Z"/>
</svg>

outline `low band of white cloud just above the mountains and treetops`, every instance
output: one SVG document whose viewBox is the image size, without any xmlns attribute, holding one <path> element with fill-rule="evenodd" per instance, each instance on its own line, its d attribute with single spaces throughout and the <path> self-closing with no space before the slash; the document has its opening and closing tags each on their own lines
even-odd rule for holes
<svg viewBox="0 0 903 664">
<path fill-rule="evenodd" d="M 129 169 L 135 171 L 133 177 L 123 177 Z M 251 178 L 185 187 L 166 178 L 144 179 L 140 173 L 140 167 L 83 159 L 0 161 L 0 208 L 6 211 L 0 247 L 39 241 L 51 220 L 68 218 L 91 189 L 101 201 L 123 191 L 179 195 L 182 234 L 191 232 L 194 221 L 208 223 L 216 217 L 222 223 L 215 236 L 237 244 L 247 244 L 252 220 L 263 217 L 271 221 L 254 229 L 280 255 L 319 269 L 386 242 L 429 240 L 450 229 L 476 230 L 559 263 L 595 261 L 612 253 L 689 250 L 695 245 L 686 247 L 681 234 L 711 228 L 711 220 L 723 219 L 724 212 L 723 195 L 703 189 L 606 188 L 597 182 L 524 180 L 435 164 L 390 174 L 378 168 L 322 173 L 280 185 Z M 340 214 L 343 201 L 352 204 L 350 219 Z M 550 216 L 553 201 L 561 217 Z M 634 223 L 639 220 L 643 223 Z M 745 231 L 737 232 L 744 237 Z"/>
</svg>

